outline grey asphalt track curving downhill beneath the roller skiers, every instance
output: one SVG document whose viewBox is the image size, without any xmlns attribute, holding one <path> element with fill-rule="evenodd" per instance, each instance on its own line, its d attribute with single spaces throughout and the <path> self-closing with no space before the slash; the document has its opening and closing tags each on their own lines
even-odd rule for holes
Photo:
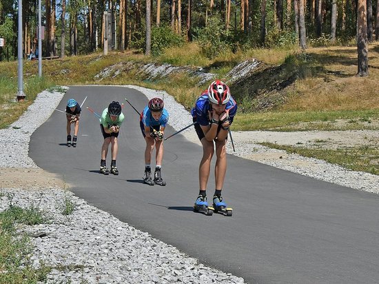
<svg viewBox="0 0 379 284">
<path fill-rule="evenodd" d="M 162 170 L 167 186 L 144 185 L 145 141 L 139 116 L 125 98 L 143 110 L 146 97 L 128 88 L 71 87 L 58 108 L 64 110 L 71 97 L 81 103 L 86 96 L 77 148 L 65 145 L 61 112 L 54 112 L 30 141 L 35 163 L 59 174 L 77 196 L 247 283 L 379 282 L 378 195 L 229 155 L 223 196 L 233 216 L 194 213 L 201 147 L 181 134 L 168 139 Z M 114 100 L 125 103 L 120 175 L 104 176 L 99 174 L 99 120 L 85 106 L 101 114 Z M 173 132 L 168 126 L 165 133 Z M 213 191 L 211 174 L 208 195 Z"/>
</svg>

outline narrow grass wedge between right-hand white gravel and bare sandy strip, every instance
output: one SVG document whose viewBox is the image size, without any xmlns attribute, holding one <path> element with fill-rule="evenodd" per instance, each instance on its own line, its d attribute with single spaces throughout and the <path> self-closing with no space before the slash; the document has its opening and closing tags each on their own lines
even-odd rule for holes
<svg viewBox="0 0 379 284">
<path fill-rule="evenodd" d="M 321 159 L 350 170 L 369 172 L 370 174 L 379 174 L 379 149 L 375 146 L 361 146 L 329 150 L 292 147 L 269 142 L 260 144 L 269 148 L 285 150 L 286 152 L 292 154 L 300 154 L 301 156 L 307 156 L 309 158 Z"/>
</svg>

